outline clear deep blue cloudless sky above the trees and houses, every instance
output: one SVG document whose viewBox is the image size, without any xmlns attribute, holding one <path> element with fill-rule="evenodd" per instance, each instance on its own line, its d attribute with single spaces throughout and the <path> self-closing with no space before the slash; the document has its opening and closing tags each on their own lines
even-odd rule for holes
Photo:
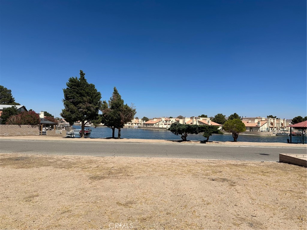
<svg viewBox="0 0 307 230">
<path fill-rule="evenodd" d="M 306 116 L 306 1 L 0 1 L 0 84 L 59 117 L 85 72 L 137 117 Z"/>
</svg>

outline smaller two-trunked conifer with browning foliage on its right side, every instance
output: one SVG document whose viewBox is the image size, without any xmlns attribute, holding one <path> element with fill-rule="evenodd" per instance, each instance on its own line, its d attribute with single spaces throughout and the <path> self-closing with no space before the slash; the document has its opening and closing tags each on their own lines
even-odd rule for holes
<svg viewBox="0 0 307 230">
<path fill-rule="evenodd" d="M 112 97 L 109 100 L 109 104 L 103 101 L 102 106 L 102 122 L 105 126 L 112 129 L 112 138 L 115 136 L 115 128 L 118 129 L 118 139 L 121 136 L 121 128 L 134 118 L 136 111 L 133 105 L 124 105 L 124 100 L 122 100 L 116 87 Z"/>
</svg>

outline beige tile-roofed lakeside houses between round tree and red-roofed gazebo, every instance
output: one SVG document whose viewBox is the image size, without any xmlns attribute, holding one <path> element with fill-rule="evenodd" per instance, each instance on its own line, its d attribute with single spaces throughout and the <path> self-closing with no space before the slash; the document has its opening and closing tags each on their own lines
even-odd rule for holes
<svg viewBox="0 0 307 230">
<path fill-rule="evenodd" d="M 242 122 L 248 132 L 278 132 L 289 131 L 289 121 L 270 117 L 243 117 Z"/>
</svg>

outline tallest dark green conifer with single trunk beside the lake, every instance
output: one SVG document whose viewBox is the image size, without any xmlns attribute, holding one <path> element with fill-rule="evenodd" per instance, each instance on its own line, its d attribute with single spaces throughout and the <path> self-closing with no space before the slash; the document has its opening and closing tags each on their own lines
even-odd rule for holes
<svg viewBox="0 0 307 230">
<path fill-rule="evenodd" d="M 99 119 L 101 107 L 101 93 L 94 84 L 89 84 L 84 78 L 85 73 L 80 70 L 80 78 L 71 77 L 66 83 L 64 92 L 64 109 L 60 114 L 70 125 L 81 121 L 81 138 L 84 138 L 84 125 Z"/>
</svg>

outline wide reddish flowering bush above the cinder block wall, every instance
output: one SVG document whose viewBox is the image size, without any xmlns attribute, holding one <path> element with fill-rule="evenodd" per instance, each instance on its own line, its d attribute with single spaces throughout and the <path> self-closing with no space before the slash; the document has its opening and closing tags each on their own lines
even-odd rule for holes
<svg viewBox="0 0 307 230">
<path fill-rule="evenodd" d="M 11 116 L 6 125 L 38 125 L 40 124 L 39 115 L 34 111 L 21 112 L 17 115 Z"/>
</svg>

